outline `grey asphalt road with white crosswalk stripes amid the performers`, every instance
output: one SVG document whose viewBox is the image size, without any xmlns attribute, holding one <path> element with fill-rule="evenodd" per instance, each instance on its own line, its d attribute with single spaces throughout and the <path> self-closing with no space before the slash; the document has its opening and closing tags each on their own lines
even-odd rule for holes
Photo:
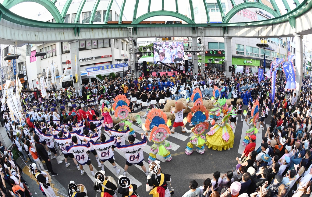
<svg viewBox="0 0 312 197">
<path fill-rule="evenodd" d="M 247 106 L 243 107 L 243 110 L 246 109 Z M 138 112 L 139 110 L 136 110 L 135 112 Z M 186 114 L 184 114 L 186 116 Z M 270 117 L 270 114 L 269 114 Z M 220 171 L 221 175 L 227 173 L 227 171 L 232 171 L 233 167 L 236 166 L 237 161 L 235 160 L 237 156 L 240 156 L 241 154 L 238 152 L 241 152 L 244 148 L 241 145 L 243 137 L 245 137 L 245 132 L 248 129 L 246 127 L 246 123 L 243 123 L 240 121 L 239 118 L 237 118 L 237 125 L 235 129 L 235 139 L 234 139 L 234 145 L 233 148 L 230 150 L 212 150 L 208 149 L 205 145 L 205 153 L 199 154 L 196 151 L 193 152 L 192 155 L 186 155 L 185 154 L 185 147 L 187 143 L 189 142 L 189 135 L 188 133 L 182 133 L 181 127 L 177 127 L 175 129 L 175 137 L 170 136 L 167 140 L 170 142 L 170 144 L 173 146 L 174 150 L 170 150 L 170 153 L 172 155 L 172 160 L 170 162 L 161 162 L 160 166 L 162 169 L 162 172 L 165 174 L 171 175 L 171 185 L 175 191 L 174 196 L 182 196 L 185 192 L 189 190 L 188 185 L 191 180 L 196 180 L 198 182 L 198 186 L 203 185 L 203 181 L 206 178 L 211 178 L 215 171 Z M 266 119 L 266 124 L 270 123 L 270 118 Z M 243 124 L 245 124 L 243 128 Z M 134 124 L 136 125 L 136 124 Z M 264 136 L 266 127 L 262 130 L 262 133 L 260 132 L 257 134 L 257 140 L 256 140 L 256 147 L 260 146 L 261 143 L 261 137 Z M 209 126 L 211 127 L 211 126 Z M 142 141 L 140 137 L 140 130 L 138 127 L 133 126 L 136 132 L 136 139 L 139 141 Z M 188 126 L 187 128 L 190 129 L 191 127 Z M 101 129 L 102 133 L 104 133 L 104 129 Z M 205 133 L 207 133 L 209 130 L 207 130 Z M 261 129 L 260 129 L 261 131 Z M 242 133 L 243 132 L 243 133 Z M 178 133 L 178 134 L 176 134 Z M 178 136 L 177 136 L 178 135 Z M 107 138 L 108 139 L 108 138 Z M 127 144 L 128 142 L 126 142 Z M 153 143 L 148 142 L 148 146 L 151 146 Z M 146 148 L 147 149 L 147 148 Z M 97 161 L 95 160 L 95 156 L 93 154 L 89 155 L 91 159 L 91 163 L 93 165 L 94 170 L 96 169 L 99 171 L 101 168 L 98 167 Z M 148 151 L 144 151 L 144 161 L 145 166 L 148 167 Z M 124 158 L 123 154 L 119 154 L 118 151 L 115 150 L 115 162 L 117 163 L 117 166 L 120 166 L 120 175 L 123 174 L 123 167 L 125 164 L 126 159 Z M 85 169 L 85 175 L 81 176 L 80 171 L 77 170 L 76 165 L 73 163 L 71 159 L 69 159 L 69 162 L 71 165 L 66 168 L 65 167 L 65 161 L 61 164 L 57 164 L 56 160 L 51 160 L 53 171 L 58 173 L 55 178 L 65 187 L 67 188 L 67 185 L 70 183 L 71 180 L 75 181 L 76 184 L 83 184 L 86 186 L 86 189 L 88 191 L 88 196 L 100 196 L 100 193 L 95 194 L 96 192 L 93 190 L 93 183 L 95 181 L 94 177 L 92 177 L 89 167 L 84 166 Z M 128 176 L 133 183 L 137 183 L 140 185 L 138 187 L 138 194 L 139 196 L 148 196 L 149 193 L 145 191 L 145 185 L 147 182 L 146 176 L 144 172 L 141 170 L 139 166 L 131 166 L 128 169 Z M 106 176 L 112 176 L 116 182 L 118 182 L 118 175 L 115 174 L 115 171 L 112 168 L 112 165 L 108 162 L 105 162 L 105 175 Z M 169 184 L 168 184 L 169 185 Z M 169 185 L 170 190 L 170 185 Z M 118 195 L 118 194 L 117 194 Z M 118 195 L 119 196 L 119 195 Z"/>
</svg>

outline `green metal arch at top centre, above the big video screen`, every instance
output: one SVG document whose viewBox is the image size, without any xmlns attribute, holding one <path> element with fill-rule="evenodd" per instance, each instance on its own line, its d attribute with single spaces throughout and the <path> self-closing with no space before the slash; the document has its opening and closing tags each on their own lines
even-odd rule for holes
<svg viewBox="0 0 312 197">
<path fill-rule="evenodd" d="M 131 24 L 138 24 L 139 22 L 144 21 L 147 18 L 150 17 L 156 17 L 156 16 L 171 16 L 171 17 L 176 17 L 179 18 L 188 24 L 195 24 L 194 21 L 192 21 L 190 18 L 184 16 L 183 14 L 173 12 L 173 11 L 168 11 L 168 10 L 163 10 L 163 11 L 153 11 L 153 12 L 148 12 L 146 14 L 143 14 L 142 16 L 138 17 L 134 21 L 132 21 Z"/>
</svg>

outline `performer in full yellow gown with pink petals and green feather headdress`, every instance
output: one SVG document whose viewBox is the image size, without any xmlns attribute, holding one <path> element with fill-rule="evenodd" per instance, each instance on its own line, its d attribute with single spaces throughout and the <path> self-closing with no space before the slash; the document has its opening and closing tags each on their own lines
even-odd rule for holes
<svg viewBox="0 0 312 197">
<path fill-rule="evenodd" d="M 223 118 L 221 123 L 215 124 L 210 128 L 210 131 L 206 134 L 206 145 L 212 150 L 222 151 L 228 148 L 233 148 L 234 133 L 233 127 L 228 123 L 228 118 L 234 115 L 234 108 L 227 106 L 227 99 L 219 99 L 218 103 L 222 108 Z"/>
</svg>

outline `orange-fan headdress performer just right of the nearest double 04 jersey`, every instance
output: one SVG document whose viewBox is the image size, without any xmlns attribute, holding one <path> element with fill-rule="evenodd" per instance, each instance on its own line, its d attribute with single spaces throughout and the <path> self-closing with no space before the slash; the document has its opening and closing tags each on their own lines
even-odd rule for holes
<svg viewBox="0 0 312 197">
<path fill-rule="evenodd" d="M 166 125 L 167 123 L 167 125 Z M 154 142 L 149 153 L 149 163 L 156 160 L 156 154 L 162 156 L 165 161 L 172 159 L 170 151 L 171 146 L 165 139 L 169 137 L 171 121 L 167 122 L 166 114 L 158 108 L 153 108 L 149 111 L 146 121 L 142 124 L 144 131 L 150 131 L 149 141 Z"/>
</svg>

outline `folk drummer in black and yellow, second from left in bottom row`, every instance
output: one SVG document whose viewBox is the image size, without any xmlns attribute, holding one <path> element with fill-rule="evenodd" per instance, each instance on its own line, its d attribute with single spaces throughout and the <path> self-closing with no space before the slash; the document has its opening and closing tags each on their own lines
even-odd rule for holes
<svg viewBox="0 0 312 197">
<path fill-rule="evenodd" d="M 93 189 L 95 191 L 101 191 L 101 197 L 117 197 L 115 194 L 117 184 L 112 177 L 105 177 L 105 171 L 102 170 L 96 172 L 94 177 L 95 183 Z"/>
</svg>

